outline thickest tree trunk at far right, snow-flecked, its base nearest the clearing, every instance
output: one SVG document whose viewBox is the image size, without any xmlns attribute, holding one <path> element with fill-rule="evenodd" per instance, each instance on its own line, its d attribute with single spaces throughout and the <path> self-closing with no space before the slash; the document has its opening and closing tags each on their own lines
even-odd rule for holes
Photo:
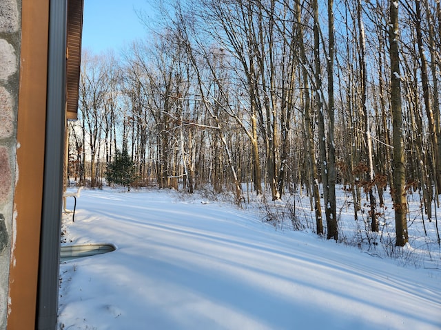
<svg viewBox="0 0 441 330">
<path fill-rule="evenodd" d="M 391 59 L 391 111 L 393 121 L 393 208 L 395 210 L 396 245 L 409 241 L 407 233 L 406 172 L 401 109 L 400 55 L 398 52 L 398 1 L 389 0 L 389 56 Z"/>
</svg>

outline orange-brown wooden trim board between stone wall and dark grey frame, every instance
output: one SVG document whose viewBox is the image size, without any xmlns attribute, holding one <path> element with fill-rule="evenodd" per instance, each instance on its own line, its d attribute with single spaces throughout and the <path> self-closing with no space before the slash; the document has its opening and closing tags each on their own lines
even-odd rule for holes
<svg viewBox="0 0 441 330">
<path fill-rule="evenodd" d="M 34 329 L 48 72 L 50 0 L 21 1 L 21 56 L 14 193 L 16 239 L 10 263 L 8 329 Z"/>
</svg>

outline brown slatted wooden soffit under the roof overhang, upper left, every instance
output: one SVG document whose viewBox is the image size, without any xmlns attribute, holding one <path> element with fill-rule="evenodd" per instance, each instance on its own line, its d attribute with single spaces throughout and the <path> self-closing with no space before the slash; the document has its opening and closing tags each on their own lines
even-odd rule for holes
<svg viewBox="0 0 441 330">
<path fill-rule="evenodd" d="M 66 118 L 76 120 L 81 65 L 84 0 L 68 0 Z"/>
</svg>

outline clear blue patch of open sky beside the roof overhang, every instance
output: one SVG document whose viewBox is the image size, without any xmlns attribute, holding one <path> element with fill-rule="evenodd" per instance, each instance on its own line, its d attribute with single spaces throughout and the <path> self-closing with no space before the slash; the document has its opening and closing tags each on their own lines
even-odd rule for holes
<svg viewBox="0 0 441 330">
<path fill-rule="evenodd" d="M 83 49 L 95 54 L 114 49 L 145 36 L 136 10 L 148 11 L 146 0 L 84 0 Z"/>
</svg>

